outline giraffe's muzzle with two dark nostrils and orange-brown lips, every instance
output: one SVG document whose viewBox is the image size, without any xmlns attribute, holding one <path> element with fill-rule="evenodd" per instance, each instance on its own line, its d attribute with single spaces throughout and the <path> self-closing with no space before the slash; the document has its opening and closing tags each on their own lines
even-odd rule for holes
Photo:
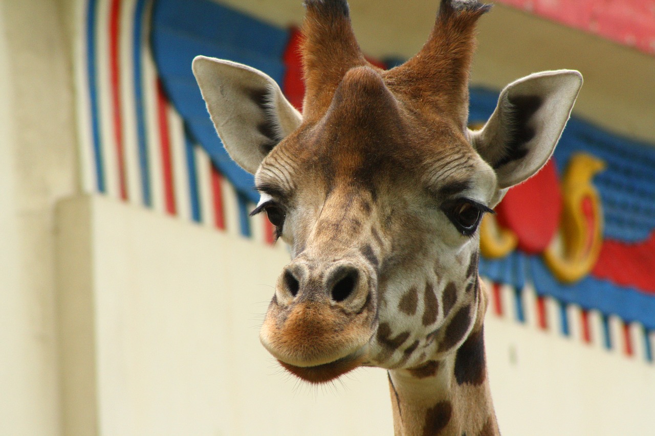
<svg viewBox="0 0 655 436">
<path fill-rule="evenodd" d="M 356 262 L 294 261 L 282 270 L 261 328 L 283 367 L 326 382 L 358 367 L 377 327 L 375 278 Z"/>
</svg>

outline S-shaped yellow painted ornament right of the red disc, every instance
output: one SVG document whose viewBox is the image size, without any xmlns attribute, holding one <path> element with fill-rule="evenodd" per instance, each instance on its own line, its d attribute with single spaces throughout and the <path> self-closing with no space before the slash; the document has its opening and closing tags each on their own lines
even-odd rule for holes
<svg viewBox="0 0 655 436">
<path fill-rule="evenodd" d="M 559 234 L 544 251 L 544 261 L 564 283 L 584 278 L 598 260 L 603 245 L 603 210 L 593 176 L 605 162 L 579 153 L 571 156 L 562 183 L 563 209 Z"/>
</svg>

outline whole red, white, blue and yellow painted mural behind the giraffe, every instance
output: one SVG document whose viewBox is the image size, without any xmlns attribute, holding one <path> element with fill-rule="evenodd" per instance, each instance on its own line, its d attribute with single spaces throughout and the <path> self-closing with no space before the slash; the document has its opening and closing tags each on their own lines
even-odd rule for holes
<svg viewBox="0 0 655 436">
<path fill-rule="evenodd" d="M 248 217 L 258 200 L 252 176 L 216 136 L 191 60 L 203 54 L 261 69 L 299 107 L 297 31 L 209 0 L 80 1 L 84 189 L 272 242 L 270 226 Z M 471 90 L 472 125 L 491 115 L 497 97 Z M 491 282 L 491 311 L 533 317 L 564 336 L 576 325 L 583 342 L 652 362 L 654 173 L 655 147 L 572 118 L 550 164 L 483 223 L 480 270 Z"/>
</svg>

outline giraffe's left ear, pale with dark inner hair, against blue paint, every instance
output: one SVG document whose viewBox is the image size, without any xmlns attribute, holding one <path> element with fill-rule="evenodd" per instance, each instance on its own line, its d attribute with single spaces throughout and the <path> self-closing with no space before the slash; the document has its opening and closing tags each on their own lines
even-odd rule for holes
<svg viewBox="0 0 655 436">
<path fill-rule="evenodd" d="M 273 147 L 302 122 L 280 86 L 257 69 L 197 56 L 193 75 L 227 153 L 247 172 L 255 173 Z"/>
</svg>

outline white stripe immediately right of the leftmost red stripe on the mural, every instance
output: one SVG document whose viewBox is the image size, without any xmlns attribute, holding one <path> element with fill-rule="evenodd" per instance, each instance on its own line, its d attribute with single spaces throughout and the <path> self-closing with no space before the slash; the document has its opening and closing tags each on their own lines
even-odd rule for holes
<svg viewBox="0 0 655 436">
<path fill-rule="evenodd" d="M 136 0 L 121 3 L 121 110 L 124 141 L 124 164 L 127 196 L 132 204 L 143 204 L 141 170 L 139 166 L 138 137 L 136 131 L 136 103 L 134 97 L 134 63 L 132 62 L 132 27 Z"/>
</svg>

